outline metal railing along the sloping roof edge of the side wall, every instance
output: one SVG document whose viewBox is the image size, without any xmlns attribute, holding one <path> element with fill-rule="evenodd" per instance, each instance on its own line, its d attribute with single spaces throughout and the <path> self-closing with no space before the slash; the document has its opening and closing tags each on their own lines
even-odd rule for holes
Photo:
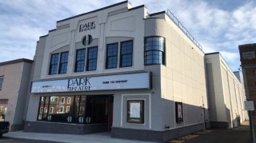
<svg viewBox="0 0 256 143">
<path fill-rule="evenodd" d="M 186 36 L 187 36 L 188 38 L 190 38 L 190 40 L 191 40 L 192 42 L 194 42 L 194 44 L 195 44 L 196 46 L 198 46 L 199 49 L 202 50 L 202 46 L 201 46 L 201 45 L 198 43 L 198 41 L 190 34 L 190 32 L 189 32 L 188 30 L 186 30 L 186 28 L 182 25 L 182 22 L 179 22 L 178 18 L 176 18 L 176 17 L 174 16 L 174 14 L 170 12 L 170 10 L 167 10 L 166 14 L 167 14 L 168 17 L 182 30 L 182 32 L 183 32 L 184 34 L 186 34 Z"/>
</svg>

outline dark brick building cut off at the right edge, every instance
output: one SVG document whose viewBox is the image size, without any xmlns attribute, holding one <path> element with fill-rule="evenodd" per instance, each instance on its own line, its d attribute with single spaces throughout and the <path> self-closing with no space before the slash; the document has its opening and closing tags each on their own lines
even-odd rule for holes
<svg viewBox="0 0 256 143">
<path fill-rule="evenodd" d="M 246 87 L 247 100 L 254 101 L 254 109 L 256 103 L 256 43 L 246 44 L 239 46 L 240 61 L 242 66 L 243 79 Z M 256 113 L 252 112 L 252 118 L 254 121 L 254 131 L 256 128 Z"/>
</svg>

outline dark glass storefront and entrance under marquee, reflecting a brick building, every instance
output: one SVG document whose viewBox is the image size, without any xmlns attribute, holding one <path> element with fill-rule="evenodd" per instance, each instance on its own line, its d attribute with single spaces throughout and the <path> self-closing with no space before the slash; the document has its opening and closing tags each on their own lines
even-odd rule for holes
<svg viewBox="0 0 256 143">
<path fill-rule="evenodd" d="M 109 96 L 41 97 L 38 121 L 107 123 Z"/>
</svg>

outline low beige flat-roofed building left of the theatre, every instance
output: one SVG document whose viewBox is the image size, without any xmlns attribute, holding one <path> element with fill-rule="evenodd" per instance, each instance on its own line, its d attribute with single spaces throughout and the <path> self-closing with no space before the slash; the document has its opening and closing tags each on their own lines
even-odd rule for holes
<svg viewBox="0 0 256 143">
<path fill-rule="evenodd" d="M 0 62 L 0 113 L 10 121 L 11 131 L 24 126 L 32 62 L 24 58 Z"/>
</svg>

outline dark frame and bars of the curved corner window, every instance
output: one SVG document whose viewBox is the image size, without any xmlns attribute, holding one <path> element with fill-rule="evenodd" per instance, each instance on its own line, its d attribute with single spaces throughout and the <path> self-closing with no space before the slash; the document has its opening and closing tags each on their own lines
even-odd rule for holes
<svg viewBox="0 0 256 143">
<path fill-rule="evenodd" d="M 163 47 L 163 51 L 162 50 L 146 50 L 146 39 L 147 38 L 163 38 L 163 46 L 164 46 Z M 156 64 L 156 63 L 147 64 L 146 63 L 146 52 L 147 51 L 162 52 L 162 63 L 160 63 L 160 64 Z M 166 66 L 166 38 L 164 38 L 162 36 L 148 36 L 148 37 L 144 38 L 144 66 L 152 66 L 152 65 L 163 65 L 163 66 Z"/>
</svg>

